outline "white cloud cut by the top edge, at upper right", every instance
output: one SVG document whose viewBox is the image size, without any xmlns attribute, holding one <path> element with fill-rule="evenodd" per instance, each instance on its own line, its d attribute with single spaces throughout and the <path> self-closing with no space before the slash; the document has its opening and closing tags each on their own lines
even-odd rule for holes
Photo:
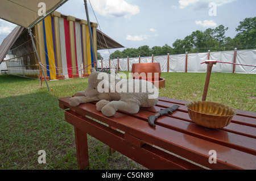
<svg viewBox="0 0 256 181">
<path fill-rule="evenodd" d="M 217 6 L 222 6 L 228 3 L 232 3 L 236 0 L 179 0 L 180 9 L 184 9 L 188 6 L 193 6 L 195 9 L 201 9 L 209 7 L 209 3 L 216 3 Z"/>
</svg>

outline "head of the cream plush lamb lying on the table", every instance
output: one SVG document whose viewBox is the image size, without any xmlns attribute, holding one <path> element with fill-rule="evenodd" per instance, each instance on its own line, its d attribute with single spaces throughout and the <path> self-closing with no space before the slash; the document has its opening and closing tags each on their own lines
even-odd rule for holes
<svg viewBox="0 0 256 181">
<path fill-rule="evenodd" d="M 85 89 L 86 97 L 93 97 L 100 92 L 110 92 L 112 86 L 110 85 L 110 75 L 96 71 L 94 68 L 90 69 L 88 77 L 88 87 Z"/>
</svg>

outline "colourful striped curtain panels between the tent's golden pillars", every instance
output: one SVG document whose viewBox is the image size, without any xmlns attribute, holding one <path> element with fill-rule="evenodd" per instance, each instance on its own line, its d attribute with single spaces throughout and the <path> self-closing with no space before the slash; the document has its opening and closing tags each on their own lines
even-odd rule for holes
<svg viewBox="0 0 256 181">
<path fill-rule="evenodd" d="M 88 70 L 90 74 L 90 68 L 94 67 L 94 65 L 90 65 L 93 63 L 93 53 L 92 53 L 92 46 L 90 44 L 90 37 L 88 26 L 86 25 L 85 28 L 85 35 L 86 35 L 86 45 L 82 44 L 82 28 L 79 22 L 72 22 L 73 23 L 73 30 L 68 20 L 66 18 L 59 18 L 59 35 L 60 35 L 60 51 L 61 51 L 61 65 L 57 65 L 56 61 L 56 43 L 55 43 L 55 26 L 54 20 L 51 15 L 47 16 L 43 20 L 43 33 L 44 33 L 44 48 L 46 54 L 46 65 L 44 68 L 47 69 L 47 76 L 50 79 L 56 79 L 57 75 L 61 75 L 59 73 L 59 69 L 62 70 L 62 74 L 65 78 L 72 78 L 72 70 L 76 71 L 76 74 L 79 77 L 85 73 L 85 69 Z M 71 42 L 71 31 L 73 31 L 74 40 L 75 42 Z M 75 44 L 75 61 L 76 66 L 72 67 L 72 54 L 71 54 L 71 43 Z M 86 52 L 82 51 L 82 47 L 86 46 Z M 84 65 L 84 58 L 83 54 L 87 56 L 87 62 Z M 87 68 L 85 68 L 89 65 Z M 74 64 L 73 64 L 74 65 Z M 74 72 L 73 72 L 74 73 Z"/>
</svg>

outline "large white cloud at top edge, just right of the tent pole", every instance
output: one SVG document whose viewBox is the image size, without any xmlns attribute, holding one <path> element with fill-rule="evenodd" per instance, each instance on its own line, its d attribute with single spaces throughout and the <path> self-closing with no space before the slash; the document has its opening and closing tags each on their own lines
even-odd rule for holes
<svg viewBox="0 0 256 181">
<path fill-rule="evenodd" d="M 126 0 L 93 0 L 92 7 L 101 15 L 113 15 L 116 17 L 129 17 L 139 13 L 137 5 L 131 5 Z"/>
</svg>

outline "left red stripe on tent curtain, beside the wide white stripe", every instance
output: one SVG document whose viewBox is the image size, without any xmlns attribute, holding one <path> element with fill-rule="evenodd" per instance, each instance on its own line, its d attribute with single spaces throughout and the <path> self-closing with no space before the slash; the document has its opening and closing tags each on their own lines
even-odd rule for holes
<svg viewBox="0 0 256 181">
<path fill-rule="evenodd" d="M 69 37 L 69 24 L 68 20 L 64 18 L 64 31 L 65 31 L 65 45 L 66 45 L 66 56 L 68 66 L 68 77 L 72 78 L 72 63 L 71 63 L 71 47 Z"/>
</svg>

